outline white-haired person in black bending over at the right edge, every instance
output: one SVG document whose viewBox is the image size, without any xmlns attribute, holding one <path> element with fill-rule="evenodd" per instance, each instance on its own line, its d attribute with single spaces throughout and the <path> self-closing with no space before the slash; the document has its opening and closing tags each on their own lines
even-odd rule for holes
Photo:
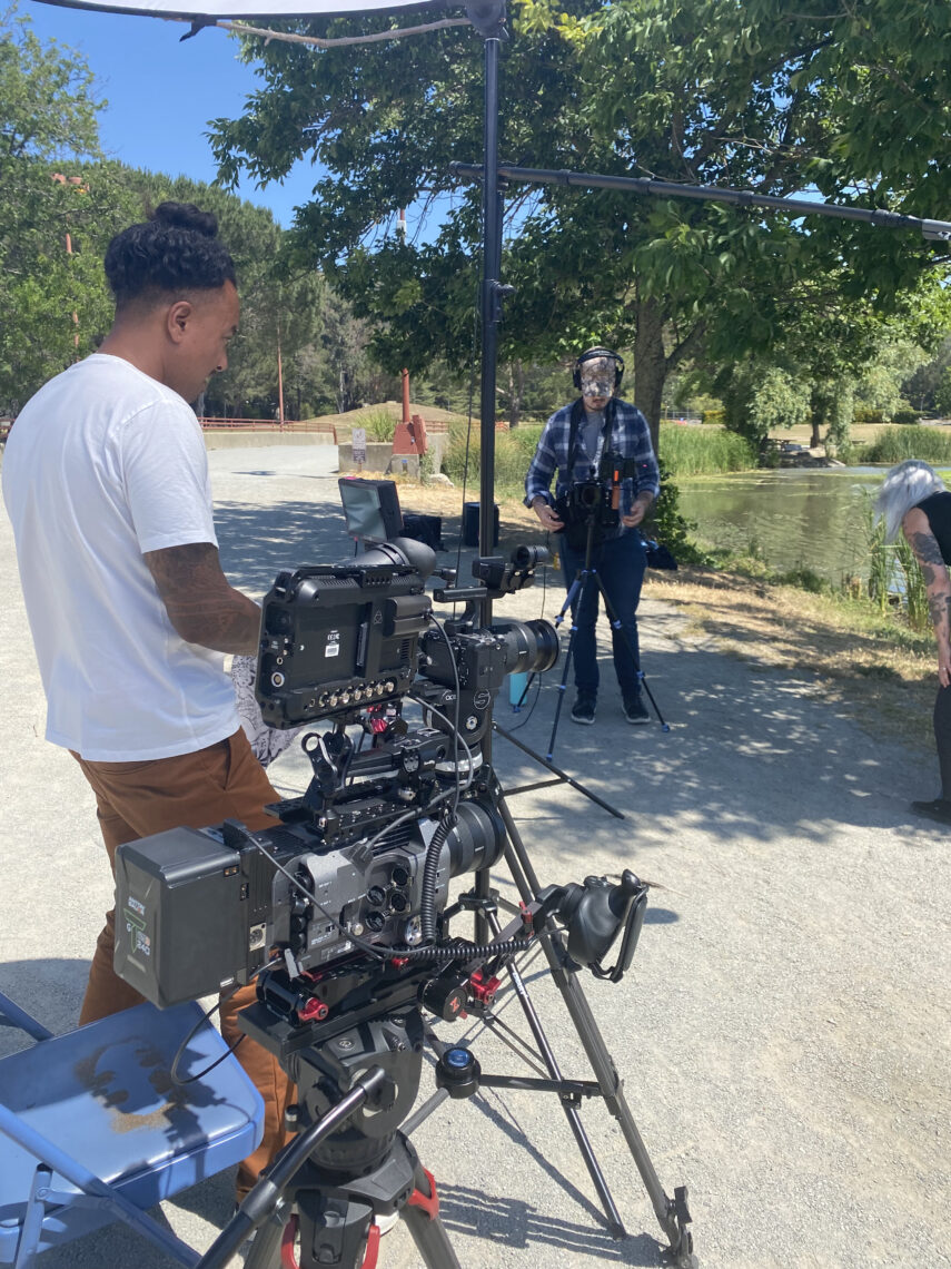
<svg viewBox="0 0 951 1269">
<path fill-rule="evenodd" d="M 900 529 L 914 552 L 924 577 L 938 646 L 935 742 L 941 796 L 928 802 L 912 802 L 912 810 L 951 825 L 951 494 L 927 463 L 909 458 L 885 477 L 875 510 L 876 518 L 885 522 L 885 541 L 894 542 Z"/>
</svg>

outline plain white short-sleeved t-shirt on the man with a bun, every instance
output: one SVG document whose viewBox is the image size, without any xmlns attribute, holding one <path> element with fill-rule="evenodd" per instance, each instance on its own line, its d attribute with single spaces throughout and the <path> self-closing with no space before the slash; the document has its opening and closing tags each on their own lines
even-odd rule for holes
<svg viewBox="0 0 951 1269">
<path fill-rule="evenodd" d="M 90 761 L 171 758 L 240 721 L 223 656 L 174 629 L 146 551 L 212 542 L 190 406 L 95 353 L 23 407 L 3 491 L 47 694 L 47 740 Z"/>
</svg>

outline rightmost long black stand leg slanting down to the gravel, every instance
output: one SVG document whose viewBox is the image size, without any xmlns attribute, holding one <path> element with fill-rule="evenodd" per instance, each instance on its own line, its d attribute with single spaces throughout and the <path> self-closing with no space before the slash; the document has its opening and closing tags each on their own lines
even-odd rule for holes
<svg viewBox="0 0 951 1269">
<path fill-rule="evenodd" d="M 510 863 L 512 877 L 522 900 L 525 902 L 530 902 L 540 888 L 535 869 L 531 867 L 531 860 L 525 850 L 525 844 L 521 840 L 515 821 L 512 820 L 511 811 L 508 810 L 503 797 L 498 798 L 498 808 L 508 838 L 506 844 L 506 860 Z M 654 1171 L 654 1165 L 650 1162 L 650 1157 L 648 1156 L 644 1141 L 638 1131 L 638 1126 L 634 1122 L 634 1115 L 630 1113 L 630 1108 L 624 1098 L 618 1068 L 614 1065 L 611 1055 L 607 1052 L 607 1047 L 604 1042 L 601 1032 L 598 1030 L 597 1023 L 595 1022 L 595 1016 L 591 1013 L 587 997 L 581 989 L 577 976 L 568 973 L 566 970 L 564 962 L 567 959 L 567 954 L 564 944 L 562 943 L 562 937 L 557 930 L 549 929 L 541 933 L 540 939 L 552 970 L 552 977 L 554 978 L 558 990 L 562 992 L 562 997 L 568 1008 L 568 1014 L 574 1023 L 578 1039 L 585 1048 L 585 1053 L 591 1063 L 591 1070 L 593 1071 L 595 1079 L 601 1089 L 601 1096 L 624 1133 L 628 1148 L 630 1150 L 634 1164 L 640 1173 L 640 1179 L 644 1183 L 644 1189 L 647 1190 L 654 1208 L 654 1214 L 661 1223 L 661 1228 L 670 1240 L 671 1254 L 676 1258 L 675 1264 L 678 1269 L 694 1269 L 697 1260 L 694 1256 L 692 1236 L 687 1228 L 690 1225 L 690 1211 L 687 1209 L 686 1187 L 678 1187 L 675 1190 L 673 1198 L 668 1198 L 664 1193 L 657 1173 Z"/>
</svg>

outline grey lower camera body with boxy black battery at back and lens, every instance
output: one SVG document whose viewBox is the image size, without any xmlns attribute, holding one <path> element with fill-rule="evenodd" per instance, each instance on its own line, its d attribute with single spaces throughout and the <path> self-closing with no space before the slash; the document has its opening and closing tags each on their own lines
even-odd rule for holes
<svg viewBox="0 0 951 1269">
<path fill-rule="evenodd" d="M 249 982 L 273 948 L 281 949 L 290 978 L 307 975 L 316 983 L 322 971 L 359 956 L 355 940 L 416 947 L 435 830 L 436 821 L 421 816 L 375 846 L 356 829 L 355 839 L 351 831 L 346 845 L 328 849 L 317 824 L 251 832 L 226 821 L 129 843 L 117 854 L 117 973 L 165 1009 Z M 502 839 L 489 802 L 460 801 L 439 853 L 437 910 L 449 878 L 495 864 Z M 308 994 L 313 1016 L 333 1004 L 332 985 L 330 975 Z"/>
</svg>

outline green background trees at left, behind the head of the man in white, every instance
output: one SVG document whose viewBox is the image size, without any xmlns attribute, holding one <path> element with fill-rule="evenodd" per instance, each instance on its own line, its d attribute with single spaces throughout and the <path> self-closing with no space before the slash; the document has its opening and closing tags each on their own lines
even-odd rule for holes
<svg viewBox="0 0 951 1269">
<path fill-rule="evenodd" d="M 104 103 L 87 66 L 41 42 L 13 9 L 0 14 L 0 411 L 15 412 L 99 345 L 113 319 L 109 240 L 164 199 L 214 212 L 236 261 L 240 335 L 230 369 L 210 381 L 207 411 L 276 416 L 279 349 L 288 414 L 356 404 L 372 373 L 356 319 L 289 258 L 270 212 L 214 185 L 104 160 Z"/>
</svg>

